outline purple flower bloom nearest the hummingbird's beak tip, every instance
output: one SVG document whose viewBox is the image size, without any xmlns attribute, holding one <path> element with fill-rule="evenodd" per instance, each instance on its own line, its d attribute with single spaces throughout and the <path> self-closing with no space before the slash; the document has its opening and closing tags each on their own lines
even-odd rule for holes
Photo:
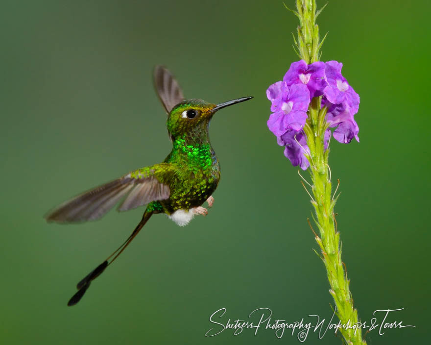
<svg viewBox="0 0 431 345">
<path fill-rule="evenodd" d="M 307 119 L 310 104 L 310 91 L 304 84 L 294 84 L 290 87 L 286 82 L 278 81 L 266 90 L 267 98 L 272 102 L 267 125 L 277 137 L 287 130 L 300 130 Z"/>
</svg>

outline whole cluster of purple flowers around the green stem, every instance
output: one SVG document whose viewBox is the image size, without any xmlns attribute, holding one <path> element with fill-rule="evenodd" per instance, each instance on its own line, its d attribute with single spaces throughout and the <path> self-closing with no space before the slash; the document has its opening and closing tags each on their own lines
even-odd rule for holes
<svg viewBox="0 0 431 345">
<path fill-rule="evenodd" d="M 359 109 L 359 95 L 341 74 L 343 64 L 337 61 L 293 62 L 283 81 L 269 86 L 266 96 L 271 101 L 268 128 L 277 137 L 277 143 L 285 146 L 285 156 L 303 170 L 310 163 L 304 153 L 309 154 L 303 126 L 311 99 L 322 96 L 322 107 L 326 107 L 326 122 L 335 127 L 334 138 L 340 143 L 350 143 L 355 137 L 359 141 L 359 127 L 354 115 Z M 325 132 L 327 148 L 331 130 Z"/>
</svg>

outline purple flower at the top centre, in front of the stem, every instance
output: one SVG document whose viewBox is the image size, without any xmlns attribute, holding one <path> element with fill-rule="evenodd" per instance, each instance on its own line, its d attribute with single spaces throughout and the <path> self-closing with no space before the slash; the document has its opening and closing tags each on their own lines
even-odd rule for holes
<svg viewBox="0 0 431 345">
<path fill-rule="evenodd" d="M 304 60 L 292 62 L 283 81 L 286 82 L 287 86 L 301 83 L 307 85 L 311 98 L 321 96 L 323 89 L 327 86 L 325 63 L 317 61 L 307 65 Z"/>
</svg>

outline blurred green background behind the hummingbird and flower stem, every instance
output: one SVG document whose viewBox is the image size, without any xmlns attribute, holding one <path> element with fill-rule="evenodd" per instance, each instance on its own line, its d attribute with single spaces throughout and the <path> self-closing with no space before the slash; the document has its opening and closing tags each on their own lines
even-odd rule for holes
<svg viewBox="0 0 431 345">
<path fill-rule="evenodd" d="M 294 1 L 287 4 L 294 7 Z M 318 1 L 323 5 L 323 1 Z M 323 60 L 361 97 L 360 143 L 331 142 L 343 260 L 362 320 L 416 328 L 369 344 L 428 339 L 430 1 L 330 1 Z M 311 204 L 266 127 L 267 86 L 292 61 L 297 19 L 270 1 L 1 1 L 2 344 L 299 344 L 272 331 L 206 338 L 209 316 L 331 317 L 306 222 Z M 222 179 L 207 217 L 153 217 L 75 307 L 75 284 L 131 233 L 143 209 L 47 224 L 52 206 L 170 150 L 151 80 L 168 66 L 186 96 L 255 99 L 216 114 Z M 427 337 L 427 338 L 425 338 Z M 316 334 L 306 343 L 314 344 Z M 332 333 L 319 344 L 339 344 Z"/>
</svg>

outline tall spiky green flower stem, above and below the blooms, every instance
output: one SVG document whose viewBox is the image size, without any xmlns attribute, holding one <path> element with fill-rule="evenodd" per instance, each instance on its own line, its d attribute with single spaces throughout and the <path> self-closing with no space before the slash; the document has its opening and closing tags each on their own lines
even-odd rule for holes
<svg viewBox="0 0 431 345">
<path fill-rule="evenodd" d="M 299 56 L 311 64 L 319 61 L 320 58 L 319 28 L 315 24 L 315 19 L 320 12 L 316 10 L 315 0 L 296 0 L 296 6 L 295 14 L 301 25 L 298 27 L 298 41 L 295 43 Z M 321 249 L 321 258 L 331 286 L 329 292 L 335 301 L 336 315 L 341 324 L 350 322 L 350 326 L 353 326 L 358 324 L 358 311 L 353 306 L 347 272 L 341 260 L 340 234 L 336 229 L 334 213 L 336 198 L 332 196 L 328 165 L 329 147 L 324 149 L 324 136 L 328 128 L 325 120 L 327 109 L 326 107 L 321 108 L 320 105 L 321 97 L 311 99 L 309 116 L 304 126 L 307 145 L 310 149 L 307 158 L 310 161 L 311 190 L 314 196 L 311 204 L 314 207 L 315 222 L 320 233 L 320 237 L 316 235 L 315 239 Z M 339 331 L 346 344 L 366 344 L 362 339 L 360 328 L 356 330 L 339 328 Z"/>
</svg>

